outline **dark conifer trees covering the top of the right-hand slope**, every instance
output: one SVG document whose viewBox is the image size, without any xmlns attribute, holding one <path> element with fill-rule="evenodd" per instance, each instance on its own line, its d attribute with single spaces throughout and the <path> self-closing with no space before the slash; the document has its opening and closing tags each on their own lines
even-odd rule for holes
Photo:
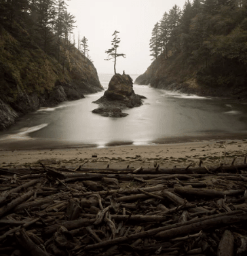
<svg viewBox="0 0 247 256">
<path fill-rule="evenodd" d="M 186 0 L 183 10 L 174 5 L 155 24 L 150 50 L 161 65 L 179 57 L 183 69 L 199 70 L 196 78 L 202 84 L 231 86 L 234 77 L 247 82 L 246 41 L 246 0 Z"/>
</svg>

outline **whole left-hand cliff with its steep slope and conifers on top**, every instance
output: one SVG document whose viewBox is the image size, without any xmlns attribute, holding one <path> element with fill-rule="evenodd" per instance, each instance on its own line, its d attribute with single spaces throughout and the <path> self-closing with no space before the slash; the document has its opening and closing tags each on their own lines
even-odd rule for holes
<svg viewBox="0 0 247 256">
<path fill-rule="evenodd" d="M 71 43 L 65 1 L 0 0 L 0 130 L 39 107 L 102 90 L 92 61 Z"/>
</svg>

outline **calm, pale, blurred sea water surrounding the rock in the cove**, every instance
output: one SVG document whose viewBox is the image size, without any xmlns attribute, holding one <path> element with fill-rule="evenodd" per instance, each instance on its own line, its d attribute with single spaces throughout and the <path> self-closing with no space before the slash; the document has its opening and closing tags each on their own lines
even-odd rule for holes
<svg viewBox="0 0 247 256">
<path fill-rule="evenodd" d="M 99 75 L 107 89 L 112 75 Z M 136 79 L 137 75 L 131 75 Z M 170 143 L 190 139 L 246 136 L 247 105 L 222 98 L 199 97 L 134 85 L 147 97 L 123 118 L 92 113 L 92 101 L 104 92 L 42 108 L 0 132 L 0 149 Z"/>
</svg>

